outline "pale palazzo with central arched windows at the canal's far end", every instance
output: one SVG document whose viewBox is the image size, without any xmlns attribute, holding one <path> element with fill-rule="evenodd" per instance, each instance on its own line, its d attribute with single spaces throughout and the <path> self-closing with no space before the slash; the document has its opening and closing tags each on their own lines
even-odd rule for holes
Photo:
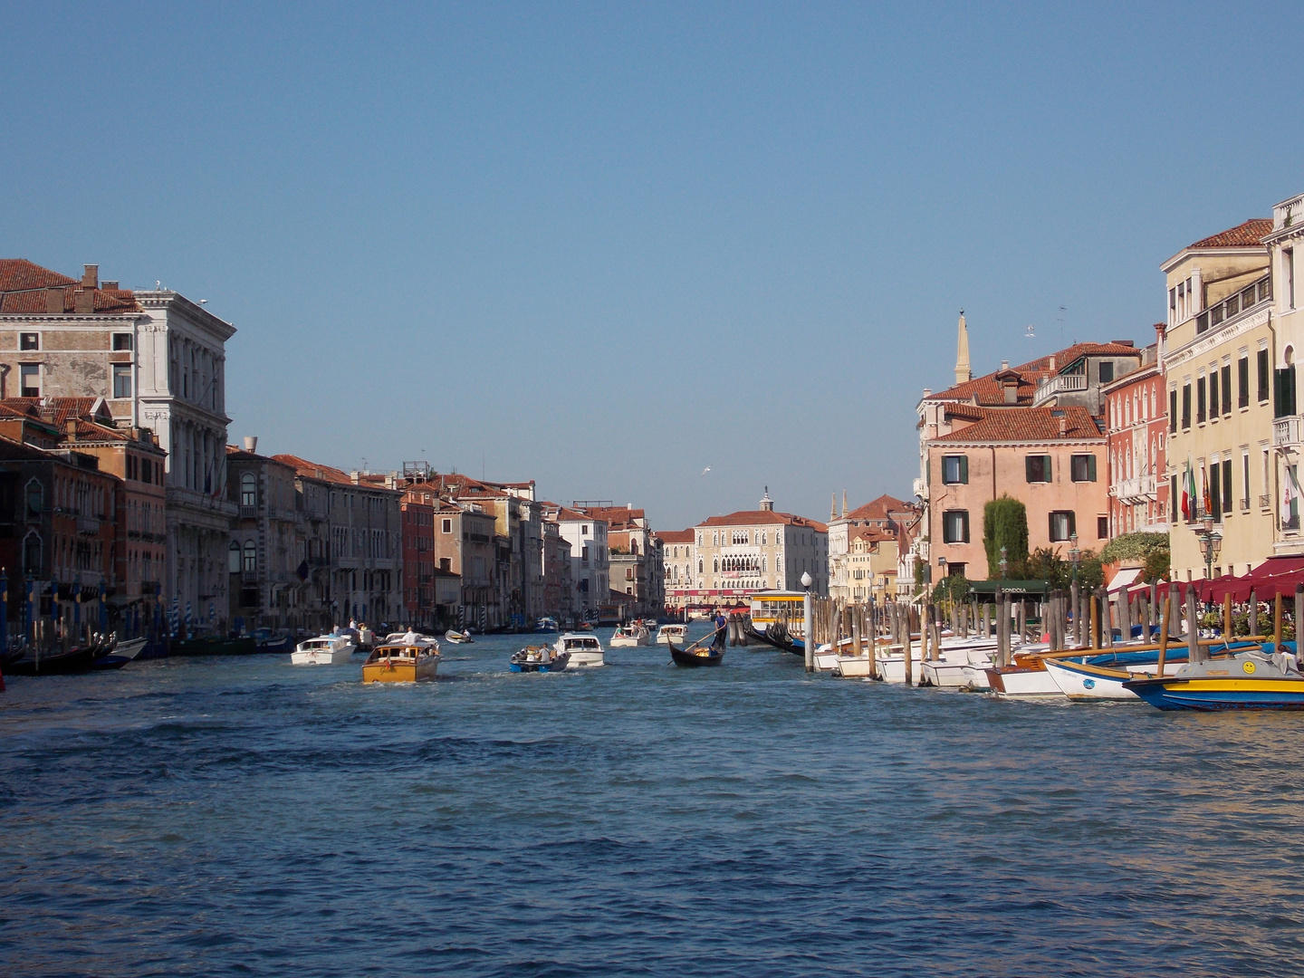
<svg viewBox="0 0 1304 978">
<path fill-rule="evenodd" d="M 700 585 L 690 595 L 692 604 L 734 604 L 756 591 L 797 591 L 803 574 L 810 574 L 814 593 L 828 593 L 828 527 L 775 511 L 768 486 L 759 509 L 711 516 L 694 527 L 694 550 Z"/>
</svg>

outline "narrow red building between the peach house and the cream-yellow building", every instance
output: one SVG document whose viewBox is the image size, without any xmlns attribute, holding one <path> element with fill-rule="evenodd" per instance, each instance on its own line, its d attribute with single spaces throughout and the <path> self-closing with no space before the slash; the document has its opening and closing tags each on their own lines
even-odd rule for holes
<svg viewBox="0 0 1304 978">
<path fill-rule="evenodd" d="M 1110 536 L 1168 532 L 1167 385 L 1159 363 L 1166 326 L 1141 369 L 1101 387 L 1110 439 Z"/>
</svg>

